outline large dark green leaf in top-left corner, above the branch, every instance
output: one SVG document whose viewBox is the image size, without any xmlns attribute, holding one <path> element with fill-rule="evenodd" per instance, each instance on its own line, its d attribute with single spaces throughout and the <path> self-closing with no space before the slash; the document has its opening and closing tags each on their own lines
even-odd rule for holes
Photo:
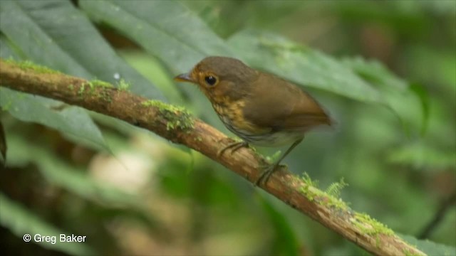
<svg viewBox="0 0 456 256">
<path fill-rule="evenodd" d="M 132 84 L 132 92 L 165 100 L 70 1 L 1 1 L 0 17 L 1 33 L 24 53 L 24 59 L 89 80 L 115 85 L 123 79 Z"/>
</svg>

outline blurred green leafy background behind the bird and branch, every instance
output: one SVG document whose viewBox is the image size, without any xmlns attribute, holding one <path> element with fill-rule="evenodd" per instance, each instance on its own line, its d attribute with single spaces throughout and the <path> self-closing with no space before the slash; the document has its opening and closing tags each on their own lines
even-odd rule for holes
<svg viewBox="0 0 456 256">
<path fill-rule="evenodd" d="M 338 122 L 285 160 L 429 255 L 455 255 L 454 1 L 0 1 L 0 57 L 183 105 L 172 78 L 229 55 L 309 90 Z M 0 87 L 11 255 L 366 255 L 197 152 L 110 117 Z M 278 149 L 259 149 L 266 156 Z M 338 191 L 340 192 L 340 191 Z M 25 233 L 87 235 L 25 243 Z M 440 245 L 444 244 L 444 245 Z M 67 246 L 68 245 L 68 246 Z"/>
</svg>

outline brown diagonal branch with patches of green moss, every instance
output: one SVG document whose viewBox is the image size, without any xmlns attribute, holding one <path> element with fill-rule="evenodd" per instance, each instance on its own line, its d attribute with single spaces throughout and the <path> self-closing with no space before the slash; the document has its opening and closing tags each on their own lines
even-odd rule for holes
<svg viewBox="0 0 456 256">
<path fill-rule="evenodd" d="M 252 183 L 259 176 L 259 166 L 265 164 L 261 156 L 246 148 L 218 157 L 217 151 L 232 142 L 222 132 L 180 107 L 146 100 L 106 82 L 90 82 L 30 64 L 0 60 L 0 86 L 61 100 L 149 129 L 199 151 Z M 282 168 L 260 187 L 375 255 L 425 255 L 385 225 L 316 188 L 309 176 L 299 178 Z"/>
</svg>

